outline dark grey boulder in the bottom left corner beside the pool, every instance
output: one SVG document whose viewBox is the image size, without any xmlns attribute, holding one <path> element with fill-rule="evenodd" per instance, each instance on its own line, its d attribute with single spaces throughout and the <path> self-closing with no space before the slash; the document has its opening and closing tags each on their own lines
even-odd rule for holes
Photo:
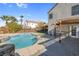
<svg viewBox="0 0 79 59">
<path fill-rule="evenodd" d="M 12 56 L 15 54 L 14 44 L 4 44 L 0 46 L 0 56 L 9 55 Z"/>
</svg>

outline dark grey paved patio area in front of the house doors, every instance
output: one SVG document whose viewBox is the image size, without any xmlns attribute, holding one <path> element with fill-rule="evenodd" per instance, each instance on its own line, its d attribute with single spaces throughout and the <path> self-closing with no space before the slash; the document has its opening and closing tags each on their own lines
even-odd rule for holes
<svg viewBox="0 0 79 59">
<path fill-rule="evenodd" d="M 65 38 L 48 45 L 47 51 L 40 56 L 79 56 L 79 38 Z"/>
</svg>

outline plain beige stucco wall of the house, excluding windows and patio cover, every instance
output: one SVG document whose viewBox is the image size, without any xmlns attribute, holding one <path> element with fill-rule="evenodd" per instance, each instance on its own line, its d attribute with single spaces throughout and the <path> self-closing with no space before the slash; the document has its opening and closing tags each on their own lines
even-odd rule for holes
<svg viewBox="0 0 79 59">
<path fill-rule="evenodd" d="M 53 19 L 48 19 L 48 31 L 54 28 L 53 25 L 56 21 L 63 18 L 71 17 L 71 8 L 79 3 L 59 3 L 53 10 L 51 10 L 48 14 L 53 14 Z M 63 29 L 67 30 L 67 27 L 63 26 Z"/>
</svg>

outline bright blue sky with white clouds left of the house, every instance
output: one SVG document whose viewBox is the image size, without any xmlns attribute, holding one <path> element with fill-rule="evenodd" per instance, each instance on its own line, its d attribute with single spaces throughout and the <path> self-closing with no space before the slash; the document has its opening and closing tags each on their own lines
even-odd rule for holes
<svg viewBox="0 0 79 59">
<path fill-rule="evenodd" d="M 11 15 L 18 20 L 23 15 L 24 20 L 36 20 L 48 22 L 48 11 L 54 6 L 53 3 L 0 3 L 0 16 Z M 5 22 L 0 19 L 0 26 Z"/>
</svg>

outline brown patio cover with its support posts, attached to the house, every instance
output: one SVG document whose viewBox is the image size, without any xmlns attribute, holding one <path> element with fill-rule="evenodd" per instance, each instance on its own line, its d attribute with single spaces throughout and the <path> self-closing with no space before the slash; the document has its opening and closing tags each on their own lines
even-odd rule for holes
<svg viewBox="0 0 79 59">
<path fill-rule="evenodd" d="M 68 18 L 62 18 L 59 19 L 54 25 L 55 27 L 59 27 L 60 28 L 60 33 L 61 33 L 61 27 L 62 25 L 78 25 L 79 24 L 79 16 L 71 16 Z M 69 34 L 70 30 L 69 30 L 69 26 L 68 26 L 68 34 Z"/>
</svg>

